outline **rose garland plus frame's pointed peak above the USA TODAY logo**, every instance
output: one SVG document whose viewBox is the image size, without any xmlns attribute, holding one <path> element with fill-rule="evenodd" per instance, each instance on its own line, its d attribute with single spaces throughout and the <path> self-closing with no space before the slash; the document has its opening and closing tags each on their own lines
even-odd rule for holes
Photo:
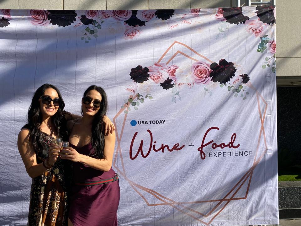
<svg viewBox="0 0 301 226">
<path fill-rule="evenodd" d="M 172 48 L 176 49 L 182 46 L 187 51 L 178 50 L 166 60 L 168 52 L 172 51 Z M 170 62 L 179 55 L 185 56 L 194 63 L 191 66 L 187 63 L 170 65 Z M 191 55 L 195 55 L 195 58 Z M 197 60 L 197 57 L 201 57 L 202 60 Z M 164 60 L 166 63 L 163 63 Z M 250 77 L 246 73 L 237 73 L 236 67 L 241 68 L 241 66 L 236 66 L 233 62 L 227 62 L 225 59 L 219 60 L 218 63 L 213 62 L 191 47 L 175 41 L 154 65 L 149 67 L 138 65 L 130 70 L 129 75 L 133 83 L 127 88 L 127 91 L 131 93 L 128 103 L 135 110 L 138 110 L 138 106 L 143 104 L 145 99 L 153 99 L 150 93 L 153 85 L 160 85 L 162 89 L 171 90 L 173 102 L 181 101 L 180 92 L 185 87 L 193 89 L 203 86 L 204 91 L 212 95 L 212 91 L 217 85 L 233 92 L 235 97 L 240 94 L 240 97 L 246 100 L 249 92 L 247 92 L 245 85 L 250 81 Z M 122 108 L 126 108 L 128 103 L 125 103 Z M 125 112 L 127 113 L 129 109 L 130 107 Z"/>
</svg>

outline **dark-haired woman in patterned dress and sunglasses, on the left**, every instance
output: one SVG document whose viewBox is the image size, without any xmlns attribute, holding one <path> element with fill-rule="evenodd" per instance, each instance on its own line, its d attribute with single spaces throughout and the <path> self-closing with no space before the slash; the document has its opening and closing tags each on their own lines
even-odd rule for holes
<svg viewBox="0 0 301 226">
<path fill-rule="evenodd" d="M 28 225 L 67 225 L 69 161 L 58 158 L 52 140 L 68 140 L 66 121 L 79 117 L 64 111 L 60 91 L 51 84 L 40 86 L 28 110 L 28 123 L 18 135 L 18 150 L 26 171 L 32 177 Z M 66 119 L 67 118 L 67 119 Z"/>
</svg>

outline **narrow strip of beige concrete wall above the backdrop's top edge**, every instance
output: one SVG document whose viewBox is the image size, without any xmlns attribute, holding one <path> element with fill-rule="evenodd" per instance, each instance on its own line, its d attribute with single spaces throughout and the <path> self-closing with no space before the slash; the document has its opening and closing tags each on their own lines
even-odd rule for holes
<svg viewBox="0 0 301 226">
<path fill-rule="evenodd" d="M 0 0 L 0 8 L 11 9 L 166 9 L 231 5 L 231 0 Z"/>
</svg>

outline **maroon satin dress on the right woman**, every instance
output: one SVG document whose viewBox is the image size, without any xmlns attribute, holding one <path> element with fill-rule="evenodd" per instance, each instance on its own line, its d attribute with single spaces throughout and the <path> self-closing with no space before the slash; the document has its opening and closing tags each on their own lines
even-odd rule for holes
<svg viewBox="0 0 301 226">
<path fill-rule="evenodd" d="M 70 146 L 80 154 L 91 156 L 91 153 L 94 152 L 91 143 L 81 148 L 71 143 Z M 104 172 L 82 163 L 73 163 L 69 219 L 74 226 L 118 225 L 117 209 L 120 199 L 118 180 L 94 186 L 76 185 L 76 183 L 106 180 L 115 176 L 112 168 L 108 172 Z"/>
</svg>

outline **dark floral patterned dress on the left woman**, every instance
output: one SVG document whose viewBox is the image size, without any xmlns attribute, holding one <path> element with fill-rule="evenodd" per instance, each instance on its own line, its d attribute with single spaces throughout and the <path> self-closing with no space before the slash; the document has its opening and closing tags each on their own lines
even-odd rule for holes
<svg viewBox="0 0 301 226">
<path fill-rule="evenodd" d="M 48 147 L 52 136 L 41 132 Z M 48 150 L 36 152 L 37 164 L 48 158 Z M 67 194 L 71 181 L 71 164 L 58 159 L 52 168 L 32 179 L 28 223 L 29 226 L 68 225 Z"/>
</svg>

